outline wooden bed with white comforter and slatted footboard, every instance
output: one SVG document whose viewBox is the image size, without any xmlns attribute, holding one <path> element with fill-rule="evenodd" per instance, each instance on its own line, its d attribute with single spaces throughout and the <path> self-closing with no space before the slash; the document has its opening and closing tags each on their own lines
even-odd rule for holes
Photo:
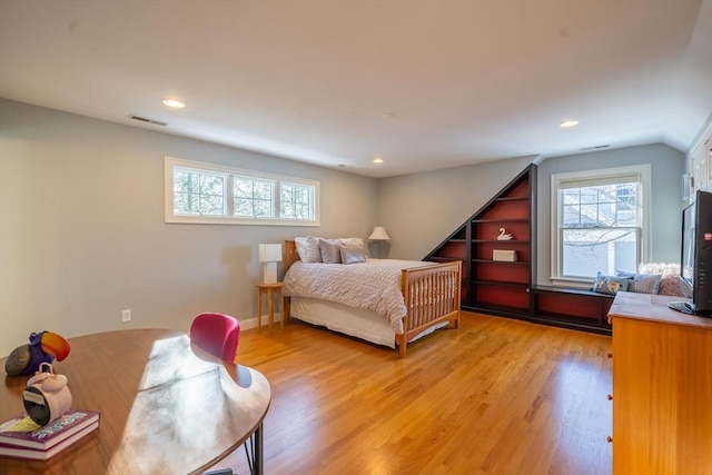
<svg viewBox="0 0 712 475">
<path fill-rule="evenodd" d="M 360 239 L 340 241 L 343 254 L 358 248 Z M 301 247 L 299 251 L 304 255 Z M 285 241 L 287 318 L 397 347 L 400 357 L 406 356 L 408 343 L 437 328 L 459 326 L 459 260 L 435 264 L 364 258 L 325 264 L 309 258 L 303 261 L 299 251 L 295 240 Z M 326 260 L 326 254 L 324 257 Z"/>
</svg>

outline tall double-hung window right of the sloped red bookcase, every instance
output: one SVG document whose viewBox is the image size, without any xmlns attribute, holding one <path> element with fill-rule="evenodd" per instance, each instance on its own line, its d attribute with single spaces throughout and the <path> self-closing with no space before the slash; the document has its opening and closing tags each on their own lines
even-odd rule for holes
<svg viewBox="0 0 712 475">
<path fill-rule="evenodd" d="M 552 176 L 552 280 L 635 273 L 649 251 L 650 166 Z"/>
</svg>

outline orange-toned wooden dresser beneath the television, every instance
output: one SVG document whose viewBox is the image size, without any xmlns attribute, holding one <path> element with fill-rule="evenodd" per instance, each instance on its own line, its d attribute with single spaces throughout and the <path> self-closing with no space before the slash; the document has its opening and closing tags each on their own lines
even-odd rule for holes
<svg viewBox="0 0 712 475">
<path fill-rule="evenodd" d="M 613 325 L 613 473 L 712 474 L 712 318 L 680 297 L 619 293 Z"/>
</svg>

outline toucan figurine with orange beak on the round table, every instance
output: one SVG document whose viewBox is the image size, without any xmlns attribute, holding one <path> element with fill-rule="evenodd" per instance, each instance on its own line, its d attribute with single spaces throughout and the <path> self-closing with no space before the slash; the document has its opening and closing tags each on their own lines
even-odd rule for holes
<svg viewBox="0 0 712 475">
<path fill-rule="evenodd" d="M 8 376 L 33 375 L 42 363 L 52 364 L 69 355 L 69 342 L 52 331 L 30 334 L 30 343 L 18 346 L 8 355 L 4 372 Z"/>
</svg>

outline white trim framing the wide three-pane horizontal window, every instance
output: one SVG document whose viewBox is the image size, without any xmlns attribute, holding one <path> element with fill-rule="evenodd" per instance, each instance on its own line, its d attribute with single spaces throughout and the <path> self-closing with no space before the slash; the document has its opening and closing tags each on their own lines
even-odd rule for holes
<svg viewBox="0 0 712 475">
<path fill-rule="evenodd" d="M 174 215 L 174 167 L 186 167 L 206 171 L 217 171 L 227 175 L 238 175 L 248 178 L 267 179 L 274 181 L 284 181 L 295 185 L 305 185 L 314 187 L 314 220 L 298 220 L 285 218 L 244 218 L 236 216 L 184 216 Z M 165 157 L 164 158 L 164 195 L 165 195 L 165 220 L 166 222 L 178 224 L 204 224 L 204 225 L 251 225 L 251 226 L 320 226 L 320 195 L 319 181 L 307 180 L 295 177 L 286 177 L 280 175 L 265 174 L 254 170 L 245 170 L 240 168 L 225 167 L 221 165 L 207 164 L 204 161 L 185 160 L 182 158 Z M 278 188 L 276 187 L 278 195 Z M 231 194 L 229 194 L 231 195 Z M 226 196 L 226 199 L 228 197 Z M 278 202 L 278 201 L 277 201 Z"/>
</svg>

